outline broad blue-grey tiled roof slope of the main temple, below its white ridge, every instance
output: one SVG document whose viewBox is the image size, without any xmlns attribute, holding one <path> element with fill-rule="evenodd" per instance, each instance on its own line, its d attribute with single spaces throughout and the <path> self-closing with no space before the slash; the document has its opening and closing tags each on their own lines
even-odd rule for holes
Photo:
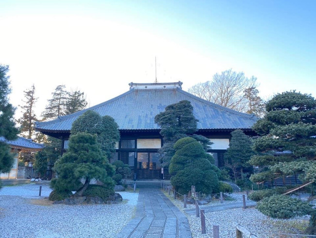
<svg viewBox="0 0 316 238">
<path fill-rule="evenodd" d="M 69 131 L 73 121 L 87 110 L 115 119 L 121 130 L 159 129 L 155 116 L 165 108 L 181 100 L 188 100 L 198 120 L 198 129 L 249 129 L 258 120 L 254 115 L 231 110 L 203 100 L 181 88 L 135 89 L 86 110 L 61 116 L 47 122 L 37 122 L 40 131 Z"/>
</svg>

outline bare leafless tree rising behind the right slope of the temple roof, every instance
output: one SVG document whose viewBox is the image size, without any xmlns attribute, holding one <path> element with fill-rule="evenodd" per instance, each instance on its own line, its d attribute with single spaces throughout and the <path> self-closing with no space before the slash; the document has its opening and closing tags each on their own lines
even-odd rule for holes
<svg viewBox="0 0 316 238">
<path fill-rule="evenodd" d="M 244 90 L 255 87 L 256 80 L 254 76 L 248 78 L 244 72 L 230 69 L 216 73 L 212 81 L 194 85 L 189 92 L 218 105 L 245 112 L 247 100 Z"/>
</svg>

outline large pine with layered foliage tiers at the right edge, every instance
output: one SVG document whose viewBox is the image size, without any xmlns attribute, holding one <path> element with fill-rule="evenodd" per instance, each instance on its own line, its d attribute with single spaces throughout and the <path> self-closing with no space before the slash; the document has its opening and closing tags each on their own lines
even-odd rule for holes
<svg viewBox="0 0 316 238">
<path fill-rule="evenodd" d="M 316 100 L 299 92 L 283 92 L 266 104 L 267 114 L 253 129 L 264 135 L 254 141 L 260 152 L 249 163 L 270 165 L 271 172 L 251 176 L 253 182 L 271 181 L 282 175 L 300 174 L 303 181 L 316 179 Z M 280 156 L 275 156 L 279 151 Z M 284 152 L 285 151 L 285 152 Z"/>
</svg>

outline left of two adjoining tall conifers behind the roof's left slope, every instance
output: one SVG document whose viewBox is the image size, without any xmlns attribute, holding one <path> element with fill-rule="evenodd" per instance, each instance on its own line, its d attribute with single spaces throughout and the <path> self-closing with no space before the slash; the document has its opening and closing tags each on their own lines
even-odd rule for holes
<svg viewBox="0 0 316 238">
<path fill-rule="evenodd" d="M 58 85 L 52 92 L 52 99 L 48 100 L 48 105 L 42 112 L 42 117 L 53 119 L 65 115 L 65 104 L 67 100 L 67 91 L 65 85 Z"/>
</svg>

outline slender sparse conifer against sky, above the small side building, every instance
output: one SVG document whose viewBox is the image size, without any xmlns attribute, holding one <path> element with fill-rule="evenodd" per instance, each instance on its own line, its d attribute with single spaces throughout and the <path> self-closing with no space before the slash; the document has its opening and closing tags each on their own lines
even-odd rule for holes
<svg viewBox="0 0 316 238">
<path fill-rule="evenodd" d="M 26 134 L 26 137 L 31 139 L 35 132 L 34 123 L 37 121 L 36 115 L 34 113 L 35 102 L 37 101 L 35 97 L 35 86 L 32 85 L 31 89 L 24 91 L 24 103 L 22 106 L 22 117 L 18 120 L 20 127 L 20 132 Z"/>
</svg>

